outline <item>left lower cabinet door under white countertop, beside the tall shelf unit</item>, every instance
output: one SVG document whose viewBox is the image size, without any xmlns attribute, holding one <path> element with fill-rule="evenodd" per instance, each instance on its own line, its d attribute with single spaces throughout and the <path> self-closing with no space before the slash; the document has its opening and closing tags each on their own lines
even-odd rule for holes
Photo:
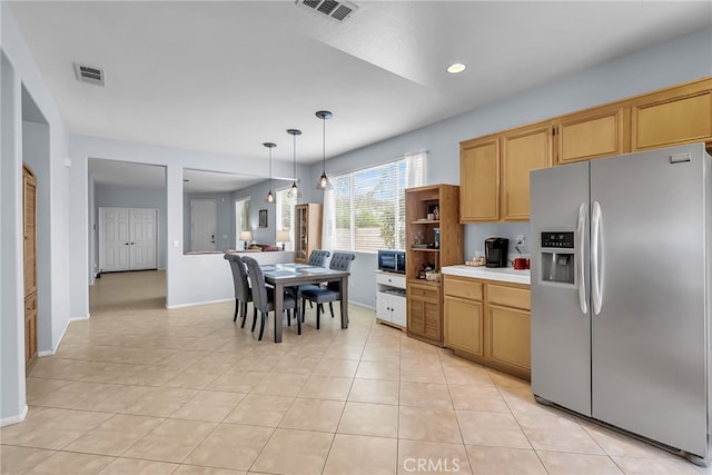
<svg viewBox="0 0 712 475">
<path fill-rule="evenodd" d="M 483 304 L 445 297 L 445 346 L 483 356 Z"/>
</svg>

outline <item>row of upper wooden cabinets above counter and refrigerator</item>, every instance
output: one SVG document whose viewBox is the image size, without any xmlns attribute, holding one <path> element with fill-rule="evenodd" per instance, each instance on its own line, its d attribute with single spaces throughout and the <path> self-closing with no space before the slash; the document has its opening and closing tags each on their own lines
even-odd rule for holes
<svg viewBox="0 0 712 475">
<path fill-rule="evenodd" d="M 712 77 L 459 144 L 461 222 L 530 218 L 530 171 L 704 141 Z"/>
</svg>

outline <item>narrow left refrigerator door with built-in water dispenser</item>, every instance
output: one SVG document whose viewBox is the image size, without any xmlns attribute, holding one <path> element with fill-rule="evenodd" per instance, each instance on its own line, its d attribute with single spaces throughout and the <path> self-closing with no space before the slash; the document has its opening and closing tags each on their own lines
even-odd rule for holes
<svg viewBox="0 0 712 475">
<path fill-rule="evenodd" d="M 552 403 L 590 416 L 591 313 L 586 294 L 590 249 L 586 219 L 589 162 L 532 171 L 530 179 L 532 392 Z M 582 227 L 578 226 L 581 212 Z M 542 232 L 573 232 L 574 248 L 543 249 Z M 564 253 L 560 254 L 558 250 Z M 558 266 L 560 258 L 566 259 L 565 253 L 572 250 L 573 283 L 554 281 L 552 267 Z M 563 264 L 567 261 L 564 260 Z"/>
</svg>

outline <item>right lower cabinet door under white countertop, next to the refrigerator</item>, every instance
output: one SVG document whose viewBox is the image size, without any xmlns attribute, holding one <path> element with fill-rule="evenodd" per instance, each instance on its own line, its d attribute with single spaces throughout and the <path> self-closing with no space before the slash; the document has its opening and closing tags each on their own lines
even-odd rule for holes
<svg viewBox="0 0 712 475">
<path fill-rule="evenodd" d="M 490 357 L 530 370 L 532 367 L 530 313 L 488 306 Z"/>
</svg>

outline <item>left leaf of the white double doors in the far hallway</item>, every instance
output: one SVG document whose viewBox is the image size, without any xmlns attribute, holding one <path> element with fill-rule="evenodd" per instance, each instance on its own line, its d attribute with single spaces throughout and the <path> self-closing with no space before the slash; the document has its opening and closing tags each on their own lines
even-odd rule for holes
<svg viewBox="0 0 712 475">
<path fill-rule="evenodd" d="M 99 208 L 99 271 L 129 269 L 129 209 Z"/>
</svg>

